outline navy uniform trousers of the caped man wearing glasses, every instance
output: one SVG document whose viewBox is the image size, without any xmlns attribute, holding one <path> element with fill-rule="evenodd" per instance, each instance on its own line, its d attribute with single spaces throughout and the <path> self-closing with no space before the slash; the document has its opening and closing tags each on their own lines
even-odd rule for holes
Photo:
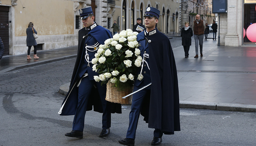
<svg viewBox="0 0 256 146">
<path fill-rule="evenodd" d="M 141 87 L 134 86 L 133 90 L 136 91 L 140 88 Z M 127 130 L 126 138 L 135 139 L 141 104 L 147 92 L 151 92 L 151 89 L 142 89 L 139 92 L 132 95 L 132 106 L 131 106 L 131 112 L 129 114 L 129 127 Z M 154 137 L 162 137 L 162 136 L 163 136 L 163 133 L 160 131 L 160 129 L 154 130 Z"/>
</svg>

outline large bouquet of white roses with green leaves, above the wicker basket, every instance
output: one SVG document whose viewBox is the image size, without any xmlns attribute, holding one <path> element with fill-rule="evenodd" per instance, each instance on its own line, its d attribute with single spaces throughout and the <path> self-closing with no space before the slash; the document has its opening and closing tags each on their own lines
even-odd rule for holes
<svg viewBox="0 0 256 146">
<path fill-rule="evenodd" d="M 102 81 L 102 84 L 110 81 L 118 88 L 133 85 L 142 62 L 137 34 L 131 29 L 123 30 L 99 46 L 92 59 L 93 71 L 99 73 L 99 76 L 94 76 L 95 81 Z"/>
</svg>

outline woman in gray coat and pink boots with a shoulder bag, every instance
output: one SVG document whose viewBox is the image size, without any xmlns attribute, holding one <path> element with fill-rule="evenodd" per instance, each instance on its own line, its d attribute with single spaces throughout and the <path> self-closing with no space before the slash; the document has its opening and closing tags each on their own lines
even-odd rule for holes
<svg viewBox="0 0 256 146">
<path fill-rule="evenodd" d="M 38 59 L 39 57 L 36 56 L 36 47 L 37 47 L 37 43 L 36 43 L 36 39 L 33 36 L 33 32 L 35 32 L 35 34 L 37 34 L 35 28 L 33 27 L 33 23 L 29 22 L 28 24 L 28 28 L 26 30 L 27 33 L 27 46 L 28 46 L 28 55 L 27 55 L 27 59 L 30 60 L 30 49 L 32 46 L 34 46 L 34 59 Z"/>
</svg>

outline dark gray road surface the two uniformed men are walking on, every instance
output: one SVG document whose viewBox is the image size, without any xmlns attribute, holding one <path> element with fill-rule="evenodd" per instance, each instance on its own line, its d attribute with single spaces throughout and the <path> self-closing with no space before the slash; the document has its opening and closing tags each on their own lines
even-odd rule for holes
<svg viewBox="0 0 256 146">
<path fill-rule="evenodd" d="M 111 133 L 100 138 L 101 114 L 85 115 L 83 139 L 64 136 L 72 130 L 73 116 L 60 116 L 64 96 L 59 87 L 70 81 L 75 58 L 1 74 L 0 146 L 111 145 L 125 138 L 131 107 L 112 114 Z M 181 131 L 163 135 L 162 146 L 256 145 L 256 114 L 203 109 L 180 109 Z M 153 129 L 141 117 L 135 145 L 150 145 Z"/>
</svg>

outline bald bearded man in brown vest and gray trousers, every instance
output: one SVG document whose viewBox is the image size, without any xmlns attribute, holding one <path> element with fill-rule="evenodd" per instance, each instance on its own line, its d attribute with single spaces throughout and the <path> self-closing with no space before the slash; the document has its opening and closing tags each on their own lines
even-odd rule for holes
<svg viewBox="0 0 256 146">
<path fill-rule="evenodd" d="M 194 58 L 198 58 L 198 41 L 200 46 L 200 56 L 203 57 L 203 39 L 205 32 L 205 21 L 200 19 L 200 15 L 196 15 L 196 20 L 192 24 L 194 39 L 195 39 L 195 49 L 196 56 Z"/>
</svg>

